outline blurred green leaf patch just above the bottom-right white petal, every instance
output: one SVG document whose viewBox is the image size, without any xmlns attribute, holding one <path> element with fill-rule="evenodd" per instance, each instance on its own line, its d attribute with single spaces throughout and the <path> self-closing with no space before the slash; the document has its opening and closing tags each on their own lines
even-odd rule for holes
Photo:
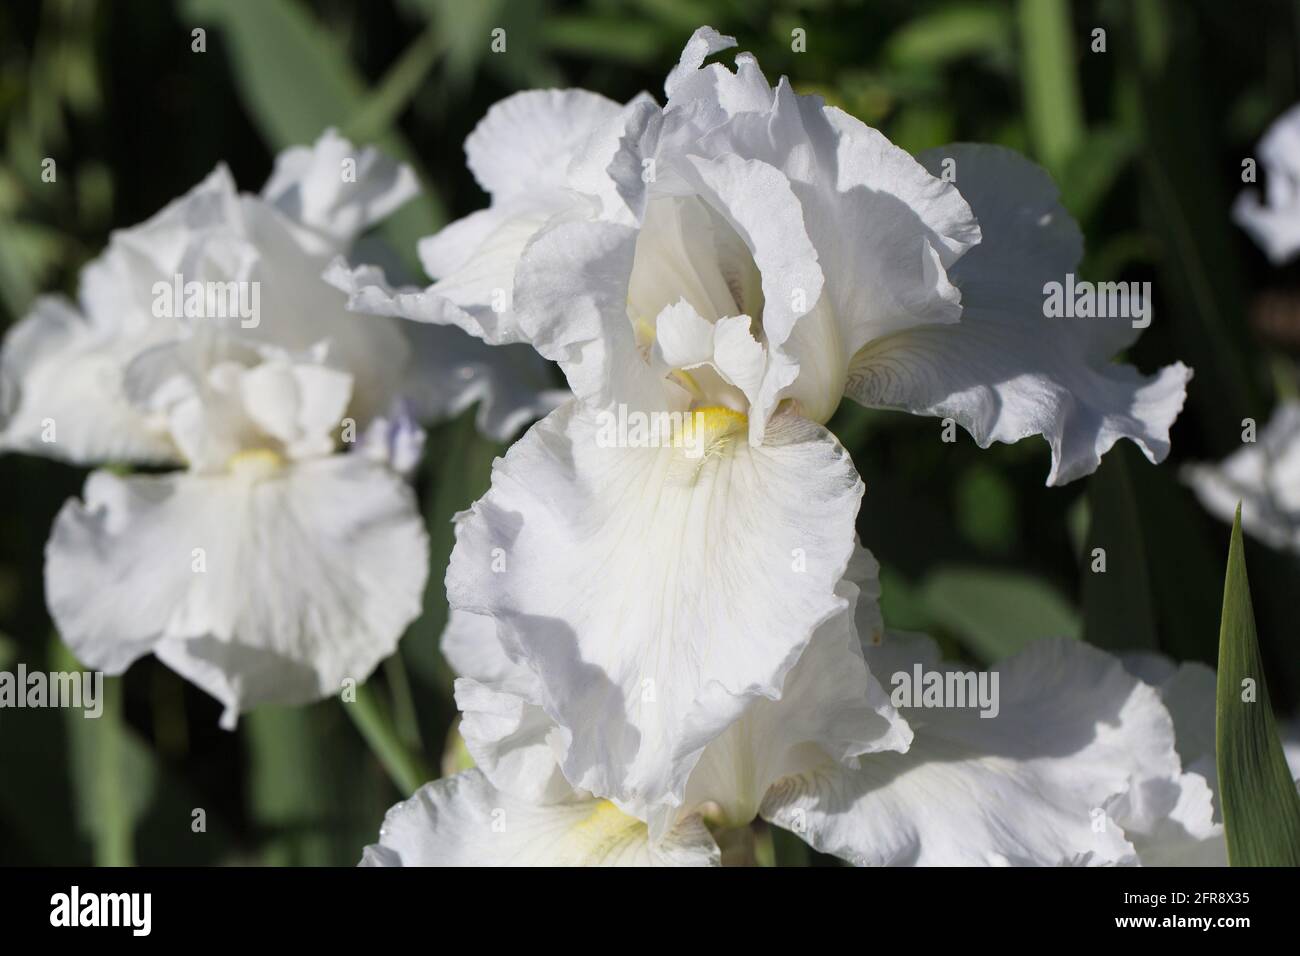
<svg viewBox="0 0 1300 956">
<path fill-rule="evenodd" d="M 1078 637 L 1079 618 L 1048 584 L 1017 571 L 950 567 L 922 585 L 930 617 L 984 661 L 1014 654 L 1039 637 Z"/>
</svg>

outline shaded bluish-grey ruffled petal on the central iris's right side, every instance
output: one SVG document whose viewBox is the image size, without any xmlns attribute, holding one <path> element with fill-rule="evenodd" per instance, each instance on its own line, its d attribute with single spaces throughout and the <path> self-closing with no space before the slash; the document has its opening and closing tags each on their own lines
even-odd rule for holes
<svg viewBox="0 0 1300 956">
<path fill-rule="evenodd" d="M 956 325 L 915 328 L 866 346 L 848 394 L 863 405 L 953 418 L 980 446 L 1043 434 L 1048 484 L 1092 472 L 1130 438 L 1152 462 L 1169 453 L 1191 371 L 1152 377 L 1112 364 L 1138 336 L 1131 320 L 1044 316 L 1044 285 L 1078 268 L 1082 239 L 1041 169 L 991 146 L 953 146 L 924 157 L 956 160 L 957 185 L 982 241 L 949 271 L 961 289 Z"/>
</svg>

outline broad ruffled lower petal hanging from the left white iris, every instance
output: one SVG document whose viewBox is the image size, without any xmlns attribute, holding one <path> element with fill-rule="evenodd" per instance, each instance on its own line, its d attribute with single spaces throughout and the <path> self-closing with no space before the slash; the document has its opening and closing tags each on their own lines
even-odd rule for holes
<svg viewBox="0 0 1300 956">
<path fill-rule="evenodd" d="M 364 455 L 222 475 L 95 472 L 55 522 L 46 594 L 64 640 L 121 672 L 153 650 L 226 706 L 302 704 L 364 680 L 420 613 L 426 535 Z"/>
</svg>

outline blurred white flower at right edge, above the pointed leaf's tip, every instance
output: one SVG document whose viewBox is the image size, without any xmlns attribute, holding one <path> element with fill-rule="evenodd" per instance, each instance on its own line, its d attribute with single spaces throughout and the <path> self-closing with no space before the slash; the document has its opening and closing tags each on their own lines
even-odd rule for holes
<svg viewBox="0 0 1300 956">
<path fill-rule="evenodd" d="M 1300 551 L 1300 402 L 1283 402 L 1254 442 L 1218 464 L 1183 470 L 1201 505 L 1231 522 L 1242 503 L 1242 527 L 1273 548 Z"/>
</svg>

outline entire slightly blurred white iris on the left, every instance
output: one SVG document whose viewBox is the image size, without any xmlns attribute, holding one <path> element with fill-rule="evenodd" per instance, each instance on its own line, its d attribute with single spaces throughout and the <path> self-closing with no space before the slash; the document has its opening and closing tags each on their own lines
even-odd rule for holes
<svg viewBox="0 0 1300 956">
<path fill-rule="evenodd" d="M 282 153 L 261 196 L 221 166 L 114 233 L 82 276 L 83 312 L 46 299 L 10 334 L 5 447 L 181 466 L 95 472 L 55 523 L 47 597 L 84 663 L 120 672 L 155 652 L 233 726 L 335 693 L 394 650 L 428 575 L 398 473 L 419 458 L 413 419 L 467 395 L 491 406 L 488 369 L 506 368 L 454 329 L 350 313 L 321 280 L 415 190 L 333 131 Z M 517 407 L 489 419 L 523 423 Z"/>
</svg>

